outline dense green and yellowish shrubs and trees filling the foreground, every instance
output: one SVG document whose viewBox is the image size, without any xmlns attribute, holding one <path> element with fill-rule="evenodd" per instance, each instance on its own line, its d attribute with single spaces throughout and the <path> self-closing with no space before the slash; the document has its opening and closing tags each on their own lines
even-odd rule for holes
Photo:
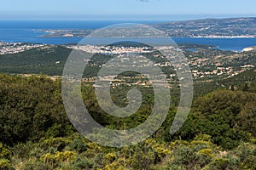
<svg viewBox="0 0 256 170">
<path fill-rule="evenodd" d="M 217 90 L 194 101 L 188 120 L 169 135 L 176 105 L 166 122 L 144 141 L 109 148 L 84 139 L 68 121 L 61 100 L 61 80 L 49 77 L 0 76 L 0 169 L 255 169 L 256 94 L 253 84 Z M 123 94 L 113 96 L 117 105 Z M 104 114 L 91 85 L 84 84 L 84 103 L 102 125 L 137 126 L 152 110 L 150 88 L 137 114 Z M 246 91 L 242 91 L 246 90 Z M 123 100 L 122 100 L 123 101 Z M 125 101 L 125 100 L 124 100 Z"/>
</svg>

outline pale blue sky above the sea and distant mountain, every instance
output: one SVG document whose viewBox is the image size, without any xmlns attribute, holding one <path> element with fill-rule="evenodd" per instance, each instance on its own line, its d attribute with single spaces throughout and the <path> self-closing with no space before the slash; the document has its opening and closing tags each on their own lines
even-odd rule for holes
<svg viewBox="0 0 256 170">
<path fill-rule="evenodd" d="M 256 15 L 255 0 L 8 0 L 0 19 L 155 19 Z"/>
</svg>

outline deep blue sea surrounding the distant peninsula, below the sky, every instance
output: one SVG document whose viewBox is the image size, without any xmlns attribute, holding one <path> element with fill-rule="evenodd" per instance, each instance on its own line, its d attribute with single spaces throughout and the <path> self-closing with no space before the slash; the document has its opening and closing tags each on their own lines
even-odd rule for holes
<svg viewBox="0 0 256 170">
<path fill-rule="evenodd" d="M 80 37 L 41 37 L 45 33 L 32 29 L 99 29 L 120 23 L 155 24 L 161 21 L 46 21 L 46 20 L 0 20 L 0 41 L 2 42 L 38 42 L 46 44 L 77 43 Z M 163 22 L 163 21 L 162 21 Z M 241 51 L 256 46 L 256 38 L 173 38 L 177 43 L 197 43 L 218 46 L 219 49 Z"/>
</svg>

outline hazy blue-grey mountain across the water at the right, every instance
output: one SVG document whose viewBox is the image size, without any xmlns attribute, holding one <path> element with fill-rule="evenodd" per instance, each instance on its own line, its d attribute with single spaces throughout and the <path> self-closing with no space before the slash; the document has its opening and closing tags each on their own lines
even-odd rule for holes
<svg viewBox="0 0 256 170">
<path fill-rule="evenodd" d="M 166 22 L 154 25 L 170 37 L 256 37 L 256 17 Z"/>
</svg>

